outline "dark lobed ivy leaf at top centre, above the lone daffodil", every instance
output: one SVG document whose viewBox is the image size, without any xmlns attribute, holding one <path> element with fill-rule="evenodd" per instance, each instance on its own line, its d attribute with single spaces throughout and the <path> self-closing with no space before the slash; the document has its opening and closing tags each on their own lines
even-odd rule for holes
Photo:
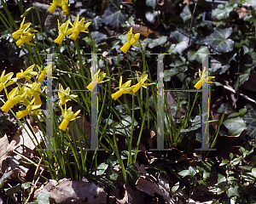
<svg viewBox="0 0 256 204">
<path fill-rule="evenodd" d="M 124 10 L 120 9 L 120 2 L 120 0 L 110 0 L 108 8 L 102 15 L 105 23 L 113 28 L 117 28 L 117 30 L 119 30 L 121 24 L 125 23 L 125 20 L 128 17 L 128 14 L 126 14 Z"/>
</svg>

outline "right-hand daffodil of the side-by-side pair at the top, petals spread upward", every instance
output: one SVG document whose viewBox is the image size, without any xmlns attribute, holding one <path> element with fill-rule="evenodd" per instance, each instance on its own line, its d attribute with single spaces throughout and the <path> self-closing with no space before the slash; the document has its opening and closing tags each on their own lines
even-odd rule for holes
<svg viewBox="0 0 256 204">
<path fill-rule="evenodd" d="M 67 35 L 71 34 L 70 36 L 71 39 L 76 40 L 77 37 L 79 36 L 79 32 L 83 31 L 83 32 L 89 32 L 89 31 L 85 31 L 91 24 L 91 22 L 88 22 L 84 25 L 84 18 L 82 20 L 79 21 L 79 15 L 77 16 L 76 20 L 74 21 L 74 23 L 72 24 L 70 22 L 71 26 L 73 26 L 73 28 L 69 29 L 67 31 Z"/>
</svg>

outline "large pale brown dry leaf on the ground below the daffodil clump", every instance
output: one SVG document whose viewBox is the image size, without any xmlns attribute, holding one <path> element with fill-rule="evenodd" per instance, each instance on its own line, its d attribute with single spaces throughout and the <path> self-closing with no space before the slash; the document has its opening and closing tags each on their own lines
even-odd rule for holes
<svg viewBox="0 0 256 204">
<path fill-rule="evenodd" d="M 55 204 L 103 204 L 107 202 L 107 194 L 102 188 L 82 180 L 74 181 L 63 178 L 57 182 L 50 179 L 48 184 L 42 185 L 35 191 L 34 199 L 40 193 L 50 193 L 49 201 Z"/>
</svg>

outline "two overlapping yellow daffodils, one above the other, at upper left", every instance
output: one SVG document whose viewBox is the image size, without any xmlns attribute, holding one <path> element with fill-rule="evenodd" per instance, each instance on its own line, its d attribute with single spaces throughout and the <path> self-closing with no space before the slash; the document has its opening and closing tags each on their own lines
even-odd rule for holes
<svg viewBox="0 0 256 204">
<path fill-rule="evenodd" d="M 17 46 L 21 47 L 24 43 L 35 46 L 35 44 L 31 43 L 30 41 L 34 37 L 34 34 L 32 34 L 31 31 L 36 31 L 36 30 L 29 28 L 31 23 L 24 24 L 24 22 L 25 22 L 25 17 L 23 18 L 20 24 L 20 29 L 12 33 L 12 37 L 14 37 L 15 40 L 17 40 L 20 37 L 20 40 L 16 42 Z"/>
</svg>

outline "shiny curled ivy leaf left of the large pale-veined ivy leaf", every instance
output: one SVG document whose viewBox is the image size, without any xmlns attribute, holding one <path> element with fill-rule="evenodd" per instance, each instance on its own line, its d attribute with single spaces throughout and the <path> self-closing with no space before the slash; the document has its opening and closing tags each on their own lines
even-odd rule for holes
<svg viewBox="0 0 256 204">
<path fill-rule="evenodd" d="M 183 55 L 183 51 L 187 48 L 189 37 L 183 34 L 181 31 L 172 31 L 170 34 L 172 40 L 176 41 L 175 51 Z M 190 41 L 191 42 L 191 41 Z"/>
</svg>

